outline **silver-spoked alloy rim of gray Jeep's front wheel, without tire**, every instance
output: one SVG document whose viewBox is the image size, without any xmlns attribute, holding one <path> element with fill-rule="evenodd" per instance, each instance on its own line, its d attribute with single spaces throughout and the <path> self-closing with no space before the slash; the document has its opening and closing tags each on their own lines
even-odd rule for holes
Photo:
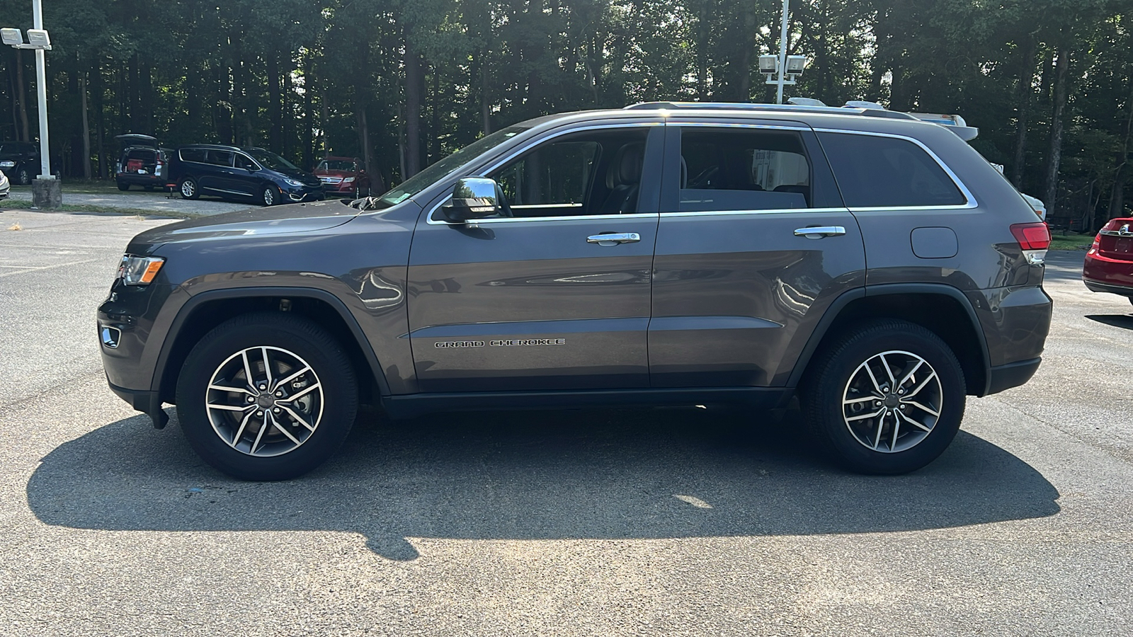
<svg viewBox="0 0 1133 637">
<path fill-rule="evenodd" d="M 295 451 L 318 428 L 324 407 L 314 368 L 278 347 L 250 347 L 228 357 L 205 392 L 216 435 L 256 457 Z"/>
</svg>

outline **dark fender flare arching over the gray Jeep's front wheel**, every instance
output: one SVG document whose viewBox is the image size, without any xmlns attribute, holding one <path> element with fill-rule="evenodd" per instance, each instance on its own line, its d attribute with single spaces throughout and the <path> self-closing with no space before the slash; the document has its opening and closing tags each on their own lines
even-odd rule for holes
<svg viewBox="0 0 1133 637">
<path fill-rule="evenodd" d="M 351 336 L 353 336 L 355 345 L 357 345 L 359 351 L 363 354 L 363 357 L 366 359 L 366 363 L 369 365 L 370 372 L 374 374 L 374 380 L 377 381 L 378 392 L 382 397 L 390 396 L 390 384 L 385 380 L 385 374 L 382 372 L 382 366 L 377 360 L 377 355 L 374 353 L 374 348 L 370 346 L 369 339 L 367 339 L 366 334 L 361 331 L 361 325 L 358 324 L 358 321 L 355 318 L 353 314 L 350 313 L 347 305 L 342 303 L 342 299 L 326 290 L 317 288 L 286 286 L 263 288 L 222 288 L 204 291 L 189 297 L 189 299 L 185 301 L 185 305 L 177 311 L 177 316 L 173 317 L 173 322 L 170 323 L 169 331 L 165 333 L 164 341 L 161 345 L 161 353 L 157 355 L 157 364 L 154 367 L 153 381 L 150 384 L 151 390 L 155 392 L 161 391 L 162 382 L 165 376 L 165 367 L 169 365 L 169 357 L 172 354 L 173 343 L 177 341 L 177 334 L 181 332 L 181 326 L 185 324 L 185 321 L 188 320 L 197 306 L 212 300 L 249 297 L 312 298 L 330 305 L 339 314 L 347 328 L 349 328 Z"/>
</svg>

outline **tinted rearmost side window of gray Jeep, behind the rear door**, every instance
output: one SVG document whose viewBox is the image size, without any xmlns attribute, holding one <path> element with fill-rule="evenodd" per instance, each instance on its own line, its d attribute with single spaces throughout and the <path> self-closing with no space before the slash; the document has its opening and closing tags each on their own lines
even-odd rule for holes
<svg viewBox="0 0 1133 637">
<path fill-rule="evenodd" d="M 850 209 L 968 203 L 940 164 L 908 139 L 846 133 L 818 137 Z"/>
</svg>

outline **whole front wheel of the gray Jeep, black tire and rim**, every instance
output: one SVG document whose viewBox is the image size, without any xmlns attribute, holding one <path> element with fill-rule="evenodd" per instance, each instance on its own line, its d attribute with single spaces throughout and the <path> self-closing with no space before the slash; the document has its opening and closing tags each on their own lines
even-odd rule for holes
<svg viewBox="0 0 1133 637">
<path fill-rule="evenodd" d="M 222 323 L 193 348 L 177 381 L 189 445 L 240 479 L 289 479 L 317 467 L 346 440 L 357 408 L 342 347 L 287 314 Z"/>
</svg>

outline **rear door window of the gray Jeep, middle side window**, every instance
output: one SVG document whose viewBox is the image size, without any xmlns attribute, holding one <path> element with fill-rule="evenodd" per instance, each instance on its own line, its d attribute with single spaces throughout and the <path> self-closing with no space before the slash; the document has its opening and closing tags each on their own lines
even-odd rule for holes
<svg viewBox="0 0 1133 637">
<path fill-rule="evenodd" d="M 680 212 L 810 206 L 810 163 L 795 133 L 681 129 Z"/>
</svg>

